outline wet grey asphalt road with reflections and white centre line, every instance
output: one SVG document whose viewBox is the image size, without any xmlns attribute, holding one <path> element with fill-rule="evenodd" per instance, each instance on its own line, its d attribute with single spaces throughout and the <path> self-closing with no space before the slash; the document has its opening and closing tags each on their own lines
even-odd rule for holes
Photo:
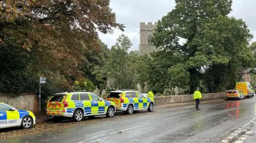
<svg viewBox="0 0 256 143">
<path fill-rule="evenodd" d="M 105 122 L 0 142 L 220 142 L 256 116 L 255 97 L 117 115 Z M 122 132 L 122 133 L 121 133 Z"/>
</svg>

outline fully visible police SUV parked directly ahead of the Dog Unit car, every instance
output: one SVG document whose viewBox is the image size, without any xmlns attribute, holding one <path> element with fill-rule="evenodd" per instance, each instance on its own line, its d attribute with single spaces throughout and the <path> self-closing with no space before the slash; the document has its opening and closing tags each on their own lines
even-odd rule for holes
<svg viewBox="0 0 256 143">
<path fill-rule="evenodd" d="M 103 100 L 92 92 L 77 90 L 54 94 L 47 101 L 46 112 L 53 119 L 72 117 L 79 122 L 84 116 L 106 114 L 107 117 L 113 117 L 116 109 L 113 102 Z"/>
</svg>

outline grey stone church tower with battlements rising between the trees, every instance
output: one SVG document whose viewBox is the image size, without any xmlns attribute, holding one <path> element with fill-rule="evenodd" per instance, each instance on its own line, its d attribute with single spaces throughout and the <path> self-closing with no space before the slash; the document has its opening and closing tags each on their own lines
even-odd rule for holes
<svg viewBox="0 0 256 143">
<path fill-rule="evenodd" d="M 156 51 L 155 46 L 153 46 L 151 42 L 151 37 L 153 37 L 153 33 L 155 32 L 157 26 L 157 22 L 152 24 L 152 22 L 140 23 L 140 45 L 139 45 L 139 54 L 147 54 L 149 55 L 151 52 Z"/>
</svg>

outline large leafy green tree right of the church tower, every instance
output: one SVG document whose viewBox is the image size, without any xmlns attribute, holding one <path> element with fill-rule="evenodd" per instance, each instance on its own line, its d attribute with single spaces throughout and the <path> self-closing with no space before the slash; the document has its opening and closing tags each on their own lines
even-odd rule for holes
<svg viewBox="0 0 256 143">
<path fill-rule="evenodd" d="M 229 65 L 236 72 L 238 68 L 246 69 L 252 65 L 252 53 L 247 47 L 252 35 L 242 20 L 227 16 L 231 11 L 231 0 L 176 0 L 175 3 L 175 9 L 163 16 L 154 33 L 154 45 L 161 49 L 158 53 L 162 55 L 154 58 L 158 61 L 167 58 L 170 62 L 156 64 L 162 65 L 162 71 L 173 76 L 165 78 L 166 75 L 162 75 L 166 80 L 158 80 L 158 84 L 170 85 L 172 82 L 171 87 L 189 84 L 190 92 L 193 92 L 201 85 L 205 69 L 211 73 L 220 66 Z M 180 44 L 180 39 L 185 42 Z M 177 70 L 180 72 L 176 73 Z"/>
</svg>

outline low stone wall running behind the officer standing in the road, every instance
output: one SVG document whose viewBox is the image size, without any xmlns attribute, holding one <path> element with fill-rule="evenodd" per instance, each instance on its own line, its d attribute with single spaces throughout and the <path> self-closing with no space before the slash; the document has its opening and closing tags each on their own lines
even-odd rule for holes
<svg viewBox="0 0 256 143">
<path fill-rule="evenodd" d="M 226 94 L 227 92 L 202 94 L 201 100 L 225 99 Z M 156 105 L 180 103 L 180 102 L 193 102 L 194 95 L 155 96 L 154 100 Z"/>
</svg>

